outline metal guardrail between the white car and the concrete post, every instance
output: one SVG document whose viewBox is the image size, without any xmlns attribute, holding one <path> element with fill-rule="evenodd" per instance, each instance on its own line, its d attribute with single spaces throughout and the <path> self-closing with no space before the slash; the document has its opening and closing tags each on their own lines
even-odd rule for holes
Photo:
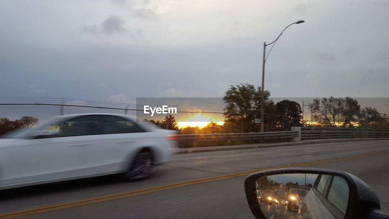
<svg viewBox="0 0 389 219">
<path fill-rule="evenodd" d="M 212 141 L 239 141 L 239 140 L 262 140 L 262 139 L 285 139 L 298 138 L 298 131 L 283 132 L 250 132 L 228 134 L 179 134 L 177 140 L 180 143 L 212 142 Z"/>
</svg>

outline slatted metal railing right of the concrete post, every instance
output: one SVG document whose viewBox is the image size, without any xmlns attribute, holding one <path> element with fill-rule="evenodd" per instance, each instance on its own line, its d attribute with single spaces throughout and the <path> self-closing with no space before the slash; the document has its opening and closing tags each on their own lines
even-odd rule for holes
<svg viewBox="0 0 389 219">
<path fill-rule="evenodd" d="M 301 127 L 301 140 L 327 138 L 389 138 L 389 129 Z"/>
</svg>

